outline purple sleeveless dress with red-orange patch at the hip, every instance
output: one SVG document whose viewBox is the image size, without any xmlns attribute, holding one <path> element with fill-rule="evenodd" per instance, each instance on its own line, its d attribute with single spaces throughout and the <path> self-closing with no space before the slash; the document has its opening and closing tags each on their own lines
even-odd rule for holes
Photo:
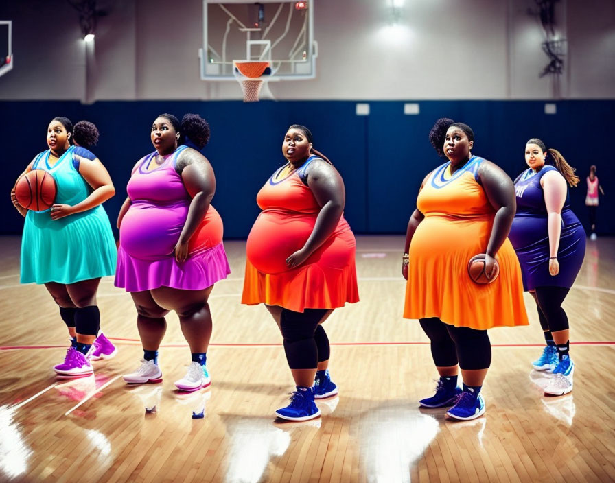
<svg viewBox="0 0 615 483">
<path fill-rule="evenodd" d="M 192 198 L 175 170 L 180 146 L 147 170 L 153 152 L 132 172 L 126 191 L 130 208 L 121 220 L 115 286 L 128 292 L 158 287 L 202 290 L 231 272 L 222 244 L 222 219 L 211 205 L 188 244 L 182 263 L 173 254 Z"/>
</svg>

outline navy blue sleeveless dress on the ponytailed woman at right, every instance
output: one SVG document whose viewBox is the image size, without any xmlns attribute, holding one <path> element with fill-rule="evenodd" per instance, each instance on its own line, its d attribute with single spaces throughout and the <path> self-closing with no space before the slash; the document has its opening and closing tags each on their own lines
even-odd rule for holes
<svg viewBox="0 0 615 483">
<path fill-rule="evenodd" d="M 561 209 L 561 235 L 559 236 L 559 274 L 549 274 L 548 213 L 540 180 L 545 173 L 557 171 L 544 165 L 537 173 L 531 168 L 515 180 L 517 214 L 513 220 L 509 239 L 521 263 L 524 290 L 535 287 L 572 287 L 585 257 L 585 231 L 579 218 L 570 209 L 570 200 Z"/>
</svg>

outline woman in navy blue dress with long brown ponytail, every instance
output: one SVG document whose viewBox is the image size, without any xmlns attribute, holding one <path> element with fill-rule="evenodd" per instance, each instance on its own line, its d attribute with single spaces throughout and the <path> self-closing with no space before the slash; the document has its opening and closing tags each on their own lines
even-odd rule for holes
<svg viewBox="0 0 615 483">
<path fill-rule="evenodd" d="M 517 214 L 509 238 L 521 263 L 524 289 L 537 303 L 546 341 L 533 366 L 553 373 L 544 388 L 546 394 L 567 394 L 572 390 L 575 364 L 570 359 L 568 317 L 561 303 L 581 270 L 585 231 L 570 209 L 566 182 L 575 187 L 579 178 L 564 156 L 547 150 L 537 138 L 527 142 L 525 161 L 529 169 L 515 180 Z"/>
</svg>

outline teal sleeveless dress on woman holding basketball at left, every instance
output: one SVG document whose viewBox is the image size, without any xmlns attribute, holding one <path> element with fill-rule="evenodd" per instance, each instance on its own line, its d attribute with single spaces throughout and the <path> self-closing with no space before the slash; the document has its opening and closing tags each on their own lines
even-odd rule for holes
<svg viewBox="0 0 615 483">
<path fill-rule="evenodd" d="M 76 167 L 76 150 L 83 158 L 95 158 L 88 150 L 71 146 L 53 166 L 49 165 L 49 150 L 38 154 L 32 165 L 54 176 L 56 204 L 73 206 L 92 191 Z M 21 283 L 96 279 L 115 274 L 116 261 L 111 224 L 102 206 L 60 220 L 51 220 L 49 209 L 28 210 L 21 239 Z"/>
</svg>

